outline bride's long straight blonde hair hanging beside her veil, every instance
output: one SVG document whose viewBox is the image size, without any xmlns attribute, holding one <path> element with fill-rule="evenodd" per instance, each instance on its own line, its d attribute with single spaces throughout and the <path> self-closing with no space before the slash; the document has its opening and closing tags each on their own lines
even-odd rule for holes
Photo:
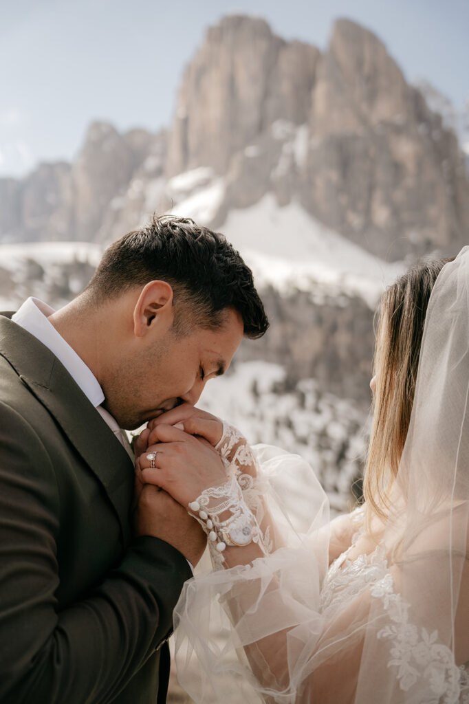
<svg viewBox="0 0 469 704">
<path fill-rule="evenodd" d="M 412 266 L 382 295 L 377 309 L 373 365 L 373 423 L 363 477 L 367 523 L 389 513 L 411 420 L 425 313 L 439 272 L 449 259 Z"/>
</svg>

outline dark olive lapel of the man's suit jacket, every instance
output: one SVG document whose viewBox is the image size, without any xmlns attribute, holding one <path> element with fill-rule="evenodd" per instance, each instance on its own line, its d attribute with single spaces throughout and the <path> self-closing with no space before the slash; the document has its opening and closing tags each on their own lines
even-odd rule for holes
<svg viewBox="0 0 469 704">
<path fill-rule="evenodd" d="M 98 411 L 51 351 L 22 327 L 0 316 L 0 354 L 55 418 L 104 487 L 130 540 L 129 502 L 132 461 Z"/>
</svg>

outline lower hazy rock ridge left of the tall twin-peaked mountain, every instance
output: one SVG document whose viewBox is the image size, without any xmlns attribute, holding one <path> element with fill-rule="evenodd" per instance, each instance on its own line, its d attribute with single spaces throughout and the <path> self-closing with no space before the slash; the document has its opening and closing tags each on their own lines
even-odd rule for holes
<svg viewBox="0 0 469 704">
<path fill-rule="evenodd" d="M 40 164 L 23 180 L 0 179 L 0 241 L 115 239 L 154 208 L 139 175 L 161 176 L 165 133 L 120 134 L 94 122 L 73 164 Z M 117 227 L 117 231 L 115 231 Z M 119 229 L 120 228 L 120 229 Z"/>
</svg>

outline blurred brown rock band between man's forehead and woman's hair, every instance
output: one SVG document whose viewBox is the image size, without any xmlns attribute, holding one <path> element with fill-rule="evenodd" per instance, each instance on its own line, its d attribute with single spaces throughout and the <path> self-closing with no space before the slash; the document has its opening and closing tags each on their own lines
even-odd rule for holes
<svg viewBox="0 0 469 704">
<path fill-rule="evenodd" d="M 237 360 L 282 360 L 291 384 L 319 379 L 323 389 L 368 408 L 375 336 L 373 312 L 361 298 L 325 297 L 318 304 L 304 291 L 279 296 L 275 289 L 264 289 L 262 298 L 270 329 L 259 340 L 244 340 Z"/>
</svg>

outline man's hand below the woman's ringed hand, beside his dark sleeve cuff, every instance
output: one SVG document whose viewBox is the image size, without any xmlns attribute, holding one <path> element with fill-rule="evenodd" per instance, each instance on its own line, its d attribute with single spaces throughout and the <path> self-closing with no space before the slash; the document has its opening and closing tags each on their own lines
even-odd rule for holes
<svg viewBox="0 0 469 704">
<path fill-rule="evenodd" d="M 204 531 L 187 510 L 165 491 L 151 484 L 145 484 L 139 491 L 134 529 L 136 536 L 152 536 L 169 543 L 193 567 L 199 562 L 207 544 Z"/>
</svg>

